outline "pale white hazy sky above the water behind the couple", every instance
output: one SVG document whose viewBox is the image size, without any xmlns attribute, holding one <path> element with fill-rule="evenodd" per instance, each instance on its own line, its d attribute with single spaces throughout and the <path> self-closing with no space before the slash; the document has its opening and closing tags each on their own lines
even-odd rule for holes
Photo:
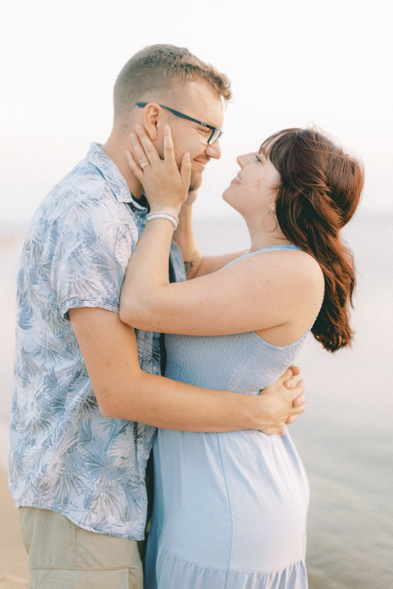
<svg viewBox="0 0 393 589">
<path fill-rule="evenodd" d="M 392 211 L 392 11 L 380 0 L 3 0 L 0 230 L 26 224 L 90 142 L 104 143 L 118 72 L 156 43 L 188 47 L 232 81 L 197 216 L 230 215 L 221 195 L 237 155 L 309 123 L 364 161 L 362 209 Z"/>
</svg>

